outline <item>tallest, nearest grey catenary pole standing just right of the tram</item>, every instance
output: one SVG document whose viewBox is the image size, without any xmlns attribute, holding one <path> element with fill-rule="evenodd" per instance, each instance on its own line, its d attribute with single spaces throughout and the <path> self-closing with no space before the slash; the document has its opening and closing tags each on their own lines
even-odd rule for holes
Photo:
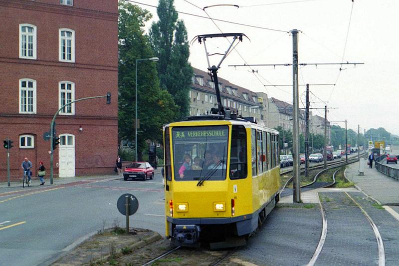
<svg viewBox="0 0 399 266">
<path fill-rule="evenodd" d="M 301 202 L 300 162 L 299 162 L 299 102 L 298 102 L 298 30 L 291 30 L 292 33 L 292 105 L 293 105 L 293 202 Z"/>
</svg>

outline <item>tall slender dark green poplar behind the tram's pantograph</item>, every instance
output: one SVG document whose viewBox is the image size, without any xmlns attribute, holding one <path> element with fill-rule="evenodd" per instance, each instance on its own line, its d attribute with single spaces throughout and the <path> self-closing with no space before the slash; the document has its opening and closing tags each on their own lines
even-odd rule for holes
<svg viewBox="0 0 399 266">
<path fill-rule="evenodd" d="M 179 106 L 176 118 L 187 116 L 190 108 L 189 91 L 193 69 L 189 63 L 190 46 L 183 20 L 178 20 L 174 0 L 160 0 L 159 21 L 151 25 L 150 41 L 159 57 L 160 86 L 173 95 Z"/>
</svg>

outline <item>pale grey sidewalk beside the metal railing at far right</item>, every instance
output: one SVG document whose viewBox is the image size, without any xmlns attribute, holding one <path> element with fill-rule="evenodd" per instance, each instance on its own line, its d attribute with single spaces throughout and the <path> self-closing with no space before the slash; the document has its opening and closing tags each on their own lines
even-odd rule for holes
<svg viewBox="0 0 399 266">
<path fill-rule="evenodd" d="M 361 159 L 360 162 L 364 164 L 365 175 L 359 176 L 359 163 L 354 163 L 346 170 L 347 178 L 382 205 L 399 205 L 399 182 L 378 172 L 374 164 L 369 168 L 367 160 Z"/>
</svg>

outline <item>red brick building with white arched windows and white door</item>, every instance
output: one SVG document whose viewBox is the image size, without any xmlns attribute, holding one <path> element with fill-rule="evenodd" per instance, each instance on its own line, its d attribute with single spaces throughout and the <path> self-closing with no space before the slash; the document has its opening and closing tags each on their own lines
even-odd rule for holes
<svg viewBox="0 0 399 266">
<path fill-rule="evenodd" d="M 0 0 L 0 140 L 13 141 L 11 178 L 24 157 L 49 169 L 55 112 L 60 177 L 110 174 L 118 146 L 118 0 Z M 6 149 L 0 180 L 6 180 Z M 36 175 L 34 171 L 34 175 Z M 47 177 L 49 171 L 47 171 Z"/>
</svg>

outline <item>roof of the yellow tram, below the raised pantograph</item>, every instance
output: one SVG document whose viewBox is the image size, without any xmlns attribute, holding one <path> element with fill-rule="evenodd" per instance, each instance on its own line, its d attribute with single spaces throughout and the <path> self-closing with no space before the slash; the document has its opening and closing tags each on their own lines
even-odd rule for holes
<svg viewBox="0 0 399 266">
<path fill-rule="evenodd" d="M 253 121 L 255 121 L 253 119 Z M 252 122 L 250 118 L 241 118 L 237 117 L 236 119 L 233 118 L 226 118 L 223 115 L 198 115 L 198 116 L 188 116 L 185 117 L 184 119 L 176 122 L 169 123 L 165 126 L 194 126 L 194 125 L 199 125 L 200 123 L 206 123 L 210 125 L 217 125 L 218 122 L 223 125 L 243 125 L 246 127 L 251 127 L 251 128 L 262 128 L 266 129 L 269 132 L 273 133 L 278 133 L 277 130 L 268 128 L 264 125 L 257 124 L 256 122 Z"/>
</svg>

